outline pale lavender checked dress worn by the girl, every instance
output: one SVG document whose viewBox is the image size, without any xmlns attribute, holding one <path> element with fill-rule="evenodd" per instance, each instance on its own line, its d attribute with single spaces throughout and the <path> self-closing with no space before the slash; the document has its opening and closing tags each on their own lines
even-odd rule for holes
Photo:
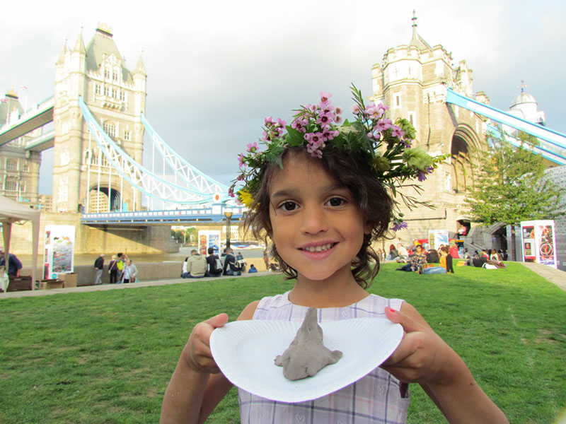
<svg viewBox="0 0 566 424">
<path fill-rule="evenodd" d="M 403 300 L 369 295 L 347 307 L 318 310 L 318 322 L 338 319 L 385 317 L 386 306 L 400 310 Z M 289 293 L 260 300 L 253 319 L 303 321 L 307 307 L 289 302 Z M 400 395 L 399 381 L 376 368 L 369 375 L 339 391 L 314 401 L 284 404 L 239 390 L 242 424 L 364 424 L 405 423 L 409 397 Z"/>
</svg>

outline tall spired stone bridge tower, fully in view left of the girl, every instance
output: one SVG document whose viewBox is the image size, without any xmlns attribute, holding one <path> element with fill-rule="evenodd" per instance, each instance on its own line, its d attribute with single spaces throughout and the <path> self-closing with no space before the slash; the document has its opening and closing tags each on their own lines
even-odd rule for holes
<svg viewBox="0 0 566 424">
<path fill-rule="evenodd" d="M 79 108 L 79 96 L 100 126 L 138 163 L 142 161 L 146 71 L 141 59 L 129 71 L 108 25 L 98 25 L 85 48 L 79 33 L 64 43 L 55 71 L 53 209 L 58 212 L 139 210 L 140 196 L 121 184 L 100 153 Z M 88 201 L 88 205 L 87 205 Z"/>
</svg>

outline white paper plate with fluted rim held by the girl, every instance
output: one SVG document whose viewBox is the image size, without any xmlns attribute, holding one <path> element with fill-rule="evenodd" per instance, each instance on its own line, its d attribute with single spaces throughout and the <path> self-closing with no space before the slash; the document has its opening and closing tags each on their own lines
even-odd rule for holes
<svg viewBox="0 0 566 424">
<path fill-rule="evenodd" d="M 212 331 L 216 364 L 232 384 L 257 396 L 296 403 L 318 399 L 369 374 L 403 338 L 403 327 L 383 318 L 322 322 L 324 346 L 344 353 L 314 377 L 291 381 L 273 360 L 293 340 L 301 322 L 271 320 L 230 322 Z"/>
</svg>

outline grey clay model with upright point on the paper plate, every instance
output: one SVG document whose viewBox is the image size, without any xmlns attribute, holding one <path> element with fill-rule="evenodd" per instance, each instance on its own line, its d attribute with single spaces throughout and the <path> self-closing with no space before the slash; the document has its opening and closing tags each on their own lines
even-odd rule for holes
<svg viewBox="0 0 566 424">
<path fill-rule="evenodd" d="M 290 380 L 313 377 L 326 365 L 335 364 L 342 357 L 340 351 L 330 351 L 323 345 L 323 329 L 316 320 L 316 308 L 309 307 L 301 327 L 283 355 L 277 355 L 275 365 L 283 367 L 283 375 Z"/>
</svg>

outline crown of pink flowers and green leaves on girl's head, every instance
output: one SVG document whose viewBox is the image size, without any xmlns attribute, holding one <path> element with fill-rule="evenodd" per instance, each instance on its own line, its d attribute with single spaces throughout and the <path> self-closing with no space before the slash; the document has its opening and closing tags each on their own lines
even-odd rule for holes
<svg viewBox="0 0 566 424">
<path fill-rule="evenodd" d="M 263 135 L 260 143 L 265 149 L 260 151 L 258 143 L 248 144 L 246 153 L 238 155 L 240 175 L 233 181 L 229 195 L 238 199 L 247 207 L 253 205 L 254 197 L 260 187 L 260 177 L 265 167 L 277 164 L 283 168 L 282 153 L 287 148 L 304 146 L 313 158 L 322 158 L 325 147 L 330 144 L 339 151 L 354 153 L 367 160 L 375 173 L 376 179 L 389 190 L 394 201 L 393 227 L 397 231 L 407 228 L 400 212 L 400 202 L 412 209 L 417 205 L 432 207 L 415 196 L 400 193 L 402 187 L 414 187 L 417 193 L 422 192 L 418 184 L 405 184 L 408 179 L 417 178 L 420 182 L 446 158 L 445 155 L 432 157 L 428 153 L 411 148 L 415 139 L 415 128 L 403 118 L 391 122 L 385 117 L 388 106 L 376 105 L 374 102 L 364 104 L 362 93 L 354 85 L 351 87 L 354 105 L 350 111 L 354 114 L 354 122 L 342 122 L 342 108 L 331 105 L 330 93 L 320 93 L 318 105 L 304 105 L 294 115 L 291 125 L 282 119 L 265 118 Z M 236 184 L 242 184 L 236 194 Z"/>
</svg>

